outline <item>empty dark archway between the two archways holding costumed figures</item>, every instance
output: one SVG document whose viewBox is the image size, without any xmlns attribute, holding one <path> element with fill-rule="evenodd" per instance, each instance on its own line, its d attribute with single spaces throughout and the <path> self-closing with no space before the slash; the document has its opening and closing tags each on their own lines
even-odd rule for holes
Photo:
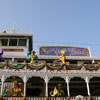
<svg viewBox="0 0 100 100">
<path fill-rule="evenodd" d="M 45 96 L 45 81 L 40 77 L 31 77 L 27 81 L 26 96 Z"/>
</svg>

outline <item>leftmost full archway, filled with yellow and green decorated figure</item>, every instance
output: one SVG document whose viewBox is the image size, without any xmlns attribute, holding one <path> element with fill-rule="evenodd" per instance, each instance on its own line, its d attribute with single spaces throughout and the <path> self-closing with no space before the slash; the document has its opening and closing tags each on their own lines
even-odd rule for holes
<svg viewBox="0 0 100 100">
<path fill-rule="evenodd" d="M 3 85 L 3 96 L 23 96 L 23 80 L 18 76 L 8 77 Z"/>
</svg>

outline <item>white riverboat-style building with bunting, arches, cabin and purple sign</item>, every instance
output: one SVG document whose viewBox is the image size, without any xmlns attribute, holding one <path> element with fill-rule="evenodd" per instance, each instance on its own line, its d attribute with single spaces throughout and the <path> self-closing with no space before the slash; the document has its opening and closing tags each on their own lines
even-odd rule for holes
<svg viewBox="0 0 100 100">
<path fill-rule="evenodd" d="M 32 33 L 15 30 L 0 33 L 0 49 L 4 49 L 3 60 L 0 62 L 0 94 L 3 100 L 75 100 L 79 95 L 84 100 L 91 97 L 94 100 L 100 99 L 100 57 L 92 57 L 89 48 L 41 46 L 37 63 L 31 65 L 26 54 L 32 50 L 32 40 Z M 66 62 L 69 63 L 56 63 L 61 57 L 61 50 L 65 51 Z M 12 97 L 13 92 L 8 91 L 14 88 L 12 81 L 18 82 L 22 97 L 20 94 Z M 62 84 L 64 96 L 52 97 L 50 92 L 58 84 Z"/>
</svg>

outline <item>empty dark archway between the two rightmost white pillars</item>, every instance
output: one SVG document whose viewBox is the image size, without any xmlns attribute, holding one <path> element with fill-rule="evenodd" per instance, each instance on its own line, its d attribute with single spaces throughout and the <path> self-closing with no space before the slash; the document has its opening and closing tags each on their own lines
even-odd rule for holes
<svg viewBox="0 0 100 100">
<path fill-rule="evenodd" d="M 70 80 L 69 90 L 71 96 L 83 95 L 87 96 L 87 87 L 84 79 L 80 77 L 74 77 Z"/>
</svg>

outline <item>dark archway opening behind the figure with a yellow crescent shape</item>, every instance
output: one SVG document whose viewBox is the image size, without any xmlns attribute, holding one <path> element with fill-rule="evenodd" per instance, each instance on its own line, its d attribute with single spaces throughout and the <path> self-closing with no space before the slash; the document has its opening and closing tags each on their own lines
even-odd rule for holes
<svg viewBox="0 0 100 100">
<path fill-rule="evenodd" d="M 65 82 L 65 80 L 61 77 L 53 77 L 50 79 L 49 83 L 48 83 L 48 95 L 50 95 L 50 92 L 54 90 L 54 87 L 56 87 L 58 89 L 58 85 L 62 85 L 61 90 L 64 91 L 64 94 L 62 94 L 61 96 L 66 96 L 67 97 L 67 84 Z"/>
</svg>

